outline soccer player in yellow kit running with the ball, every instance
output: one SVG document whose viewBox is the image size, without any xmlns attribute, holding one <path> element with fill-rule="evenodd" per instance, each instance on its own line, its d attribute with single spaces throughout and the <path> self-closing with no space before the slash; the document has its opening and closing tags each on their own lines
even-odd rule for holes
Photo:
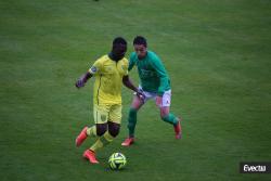
<svg viewBox="0 0 271 181">
<path fill-rule="evenodd" d="M 117 37 L 113 41 L 111 53 L 98 59 L 91 68 L 76 82 L 81 88 L 89 78 L 94 77 L 93 116 L 95 125 L 85 127 L 76 139 L 80 146 L 88 137 L 95 137 L 95 143 L 83 153 L 91 164 L 98 164 L 96 150 L 111 143 L 117 137 L 121 122 L 121 85 L 144 96 L 128 77 L 128 60 L 125 57 L 127 42 Z"/>
</svg>

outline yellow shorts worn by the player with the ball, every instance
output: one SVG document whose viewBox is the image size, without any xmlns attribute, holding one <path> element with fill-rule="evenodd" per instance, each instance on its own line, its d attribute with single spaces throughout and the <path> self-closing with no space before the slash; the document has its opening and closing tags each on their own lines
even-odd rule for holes
<svg viewBox="0 0 271 181">
<path fill-rule="evenodd" d="M 93 116 L 95 124 L 106 124 L 112 121 L 115 124 L 121 122 L 121 104 L 104 104 L 93 106 Z"/>
</svg>

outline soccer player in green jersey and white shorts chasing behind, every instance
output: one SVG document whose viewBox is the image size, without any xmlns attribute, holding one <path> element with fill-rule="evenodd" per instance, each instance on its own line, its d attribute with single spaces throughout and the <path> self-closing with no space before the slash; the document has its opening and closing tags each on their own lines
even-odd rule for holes
<svg viewBox="0 0 271 181">
<path fill-rule="evenodd" d="M 139 89 L 144 93 L 144 98 L 134 96 L 128 117 L 129 137 L 121 143 L 129 146 L 134 142 L 134 129 L 137 125 L 138 111 L 145 102 L 153 99 L 160 111 L 160 118 L 172 125 L 176 139 L 181 138 L 180 119 L 169 112 L 171 101 L 170 79 L 160 59 L 152 51 L 147 50 L 146 39 L 138 36 L 133 40 L 134 52 L 131 53 L 128 70 L 136 65 L 140 77 Z"/>
</svg>

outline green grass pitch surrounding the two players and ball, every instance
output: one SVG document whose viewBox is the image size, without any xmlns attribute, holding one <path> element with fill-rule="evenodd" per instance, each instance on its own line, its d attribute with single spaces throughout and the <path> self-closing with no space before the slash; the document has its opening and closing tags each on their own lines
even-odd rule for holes
<svg viewBox="0 0 271 181">
<path fill-rule="evenodd" d="M 0 2 L 0 180 L 269 180 L 241 174 L 240 161 L 271 161 L 271 2 L 269 0 L 7 0 Z M 81 158 L 75 138 L 92 121 L 92 81 L 77 78 L 114 37 L 143 35 L 172 82 L 171 111 L 183 139 L 154 103 L 127 135 L 131 92 L 124 88 L 120 134 Z M 136 69 L 131 72 L 136 83 Z M 111 171 L 114 152 L 127 156 Z"/>
</svg>

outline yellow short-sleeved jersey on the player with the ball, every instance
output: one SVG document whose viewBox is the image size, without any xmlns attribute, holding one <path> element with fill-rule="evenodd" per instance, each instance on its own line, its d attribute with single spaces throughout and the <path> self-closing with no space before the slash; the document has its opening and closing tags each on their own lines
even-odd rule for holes
<svg viewBox="0 0 271 181">
<path fill-rule="evenodd" d="M 128 64 L 126 57 L 116 62 L 108 55 L 103 55 L 94 62 L 89 69 L 95 77 L 94 104 L 121 104 L 122 77 L 128 75 Z"/>
</svg>

